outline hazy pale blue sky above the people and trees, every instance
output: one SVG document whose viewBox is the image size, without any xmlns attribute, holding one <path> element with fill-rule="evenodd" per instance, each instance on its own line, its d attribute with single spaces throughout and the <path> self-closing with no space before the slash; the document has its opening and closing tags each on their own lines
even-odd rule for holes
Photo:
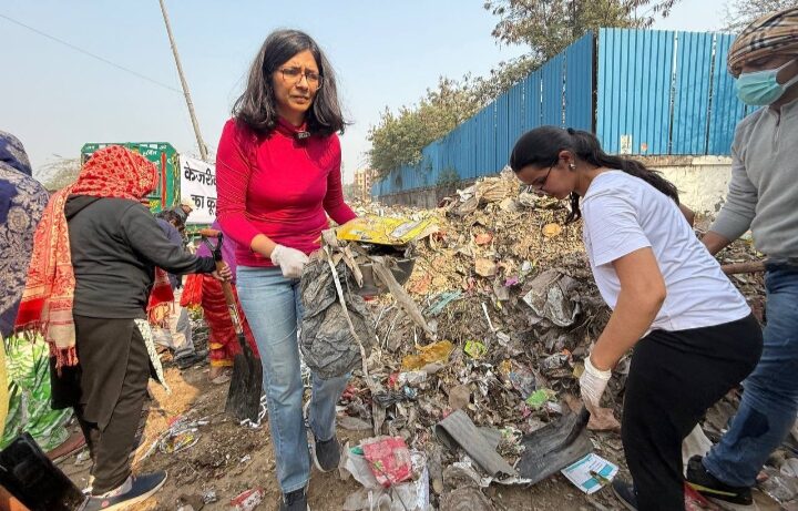
<svg viewBox="0 0 798 511">
<path fill-rule="evenodd" d="M 386 106 L 416 102 L 440 75 L 485 74 L 523 53 L 495 43 L 490 32 L 497 18 L 482 3 L 166 1 L 212 155 L 265 37 L 276 28 L 298 28 L 317 40 L 336 68 L 354 123 L 341 139 L 345 181 L 365 164 L 368 130 Z M 723 6 L 681 0 L 656 28 L 715 30 Z M 3 0 L 0 44 L 0 130 L 22 140 L 35 168 L 55 155 L 78 156 L 85 142 L 170 142 L 181 153 L 197 153 L 157 0 Z"/>
</svg>

